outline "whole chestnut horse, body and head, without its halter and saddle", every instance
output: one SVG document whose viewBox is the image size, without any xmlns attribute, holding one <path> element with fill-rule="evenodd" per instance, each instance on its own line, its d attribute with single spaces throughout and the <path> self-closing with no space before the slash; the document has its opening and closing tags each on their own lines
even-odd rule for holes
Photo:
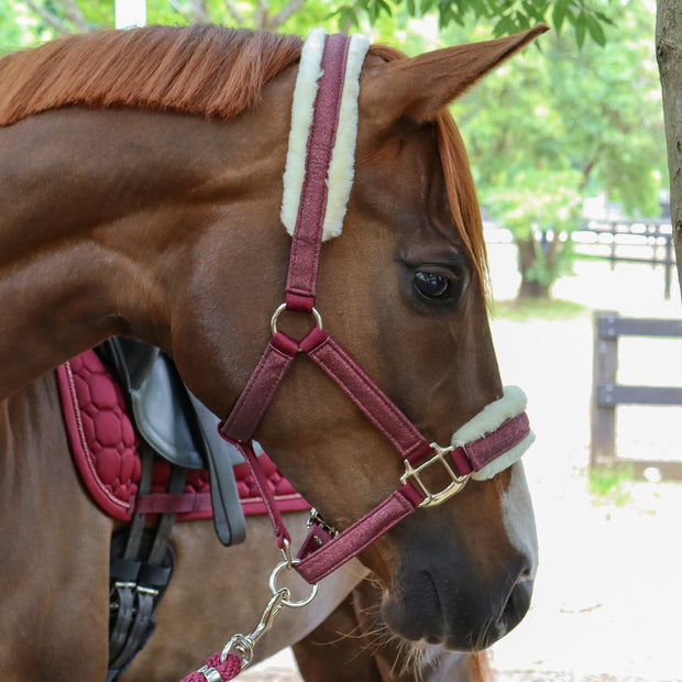
<svg viewBox="0 0 682 682">
<path fill-rule="evenodd" d="M 360 74 L 354 182 L 343 234 L 321 250 L 319 306 L 326 329 L 437 442 L 503 395 L 481 217 L 446 106 L 542 30 L 411 59 L 372 46 Z M 300 52 L 299 38 L 264 32 L 148 28 L 0 61 L 3 681 L 107 674 L 114 525 L 76 479 L 52 370 L 108 337 L 141 339 L 227 416 L 268 341 L 292 244 L 279 206 Z M 287 317 L 300 337 L 304 321 Z M 256 437 L 339 529 L 403 473 L 306 358 Z M 277 556 L 266 522 L 251 519 L 246 542 L 228 550 L 210 522 L 176 526 L 156 632 L 123 680 L 177 679 L 254 624 Z M 301 641 L 301 666 L 319 679 L 310 632 L 337 607 L 358 631 L 375 627 L 370 613 L 442 651 L 492 645 L 525 615 L 536 572 L 521 464 L 418 509 L 359 559 L 364 568 L 326 579 L 317 615 L 283 614 L 258 654 Z M 343 600 L 367 570 L 374 610 L 351 614 Z M 389 679 L 376 666 L 345 679 Z"/>
</svg>

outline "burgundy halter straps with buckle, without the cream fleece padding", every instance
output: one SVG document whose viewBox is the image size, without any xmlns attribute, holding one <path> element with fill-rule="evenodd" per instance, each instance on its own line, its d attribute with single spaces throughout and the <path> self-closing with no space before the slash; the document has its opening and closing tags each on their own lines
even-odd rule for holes
<svg viewBox="0 0 682 682">
<path fill-rule="evenodd" d="M 221 424 L 223 438 L 237 446 L 253 470 L 280 548 L 290 541 L 284 521 L 272 501 L 265 477 L 253 452 L 252 438 L 272 402 L 277 386 L 295 356 L 306 353 L 362 409 L 405 459 L 402 485 L 377 507 L 336 535 L 312 520 L 308 539 L 295 561 L 297 572 L 316 583 L 361 552 L 417 507 L 440 504 L 466 484 L 470 474 L 504 454 L 530 432 L 525 413 L 506 419 L 493 432 L 458 447 L 441 448 L 429 441 L 376 386 L 355 361 L 322 330 L 315 308 L 317 272 L 327 206 L 327 173 L 339 125 L 339 109 L 345 77 L 350 40 L 342 34 L 326 37 L 321 58 L 323 76 L 315 99 L 312 124 L 307 141 L 305 179 L 293 235 L 285 302 L 272 319 L 273 338 L 230 416 Z M 277 329 L 283 310 L 312 315 L 314 329 L 295 341 Z M 420 474 L 438 465 L 450 475 L 449 485 L 431 493 Z"/>
</svg>

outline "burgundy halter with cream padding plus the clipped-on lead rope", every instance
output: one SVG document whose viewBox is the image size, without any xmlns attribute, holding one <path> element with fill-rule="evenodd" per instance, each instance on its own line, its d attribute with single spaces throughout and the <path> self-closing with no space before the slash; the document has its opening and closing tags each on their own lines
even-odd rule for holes
<svg viewBox="0 0 682 682">
<path fill-rule="evenodd" d="M 476 476 L 476 472 L 480 472 L 479 476 L 481 477 L 490 477 L 497 471 L 506 469 L 518 460 L 531 440 L 528 418 L 522 411 L 525 396 L 520 389 L 516 389 L 521 396 L 520 400 L 518 395 L 516 398 L 505 395 L 501 400 L 486 406 L 460 428 L 453 436 L 451 446 L 441 448 L 436 443 L 429 444 L 429 441 L 355 361 L 322 330 L 322 320 L 315 308 L 315 301 L 320 248 L 323 234 L 328 231 L 327 219 L 330 212 L 328 210 L 328 179 L 331 180 L 332 176 L 330 164 L 332 166 L 334 164 L 339 111 L 344 108 L 344 102 L 348 101 L 343 97 L 345 95 L 346 57 L 350 51 L 353 57 L 351 61 L 354 64 L 354 78 L 359 75 L 365 50 L 363 47 L 353 52 L 354 38 L 349 40 L 344 35 L 321 37 L 322 35 L 323 32 L 318 30 L 308 38 L 306 46 L 304 46 L 299 67 L 298 79 L 300 80 L 304 70 L 310 67 L 310 64 L 307 63 L 304 68 L 306 47 L 308 44 L 317 44 L 315 50 L 319 52 L 314 54 L 317 54 L 316 58 L 319 58 L 320 63 L 314 64 L 312 78 L 319 81 L 319 87 L 317 95 L 315 95 L 311 121 L 307 121 L 305 125 L 309 132 L 305 148 L 305 168 L 302 170 L 298 168 L 299 172 L 302 172 L 302 177 L 298 178 L 301 189 L 295 218 L 296 226 L 293 230 L 285 302 L 275 310 L 272 317 L 272 340 L 232 413 L 220 426 L 223 438 L 239 448 L 251 466 L 265 507 L 273 521 L 277 542 L 285 553 L 285 561 L 280 562 L 271 575 L 272 597 L 255 629 L 250 635 L 232 637 L 222 652 L 210 657 L 200 670 L 185 678 L 183 682 L 231 680 L 250 663 L 253 646 L 271 627 L 273 618 L 284 606 L 305 606 L 316 594 L 317 581 L 329 575 L 361 552 L 417 507 L 433 506 L 449 499 L 464 487 L 471 475 Z M 359 52 L 362 53 L 362 58 L 359 58 Z M 310 72 L 308 72 L 307 77 L 310 78 Z M 350 90 L 353 88 L 351 87 Z M 353 92 L 353 97 L 356 97 L 356 90 Z M 294 101 L 296 106 L 296 94 Z M 312 105 L 312 100 L 310 103 Z M 294 119 L 293 116 L 289 153 L 292 153 L 292 140 L 297 125 Z M 350 150 L 352 154 L 354 151 L 354 132 L 351 142 L 352 145 L 348 143 L 348 140 L 344 140 L 343 144 L 349 147 L 352 146 Z M 295 147 L 295 155 L 296 150 L 299 151 L 299 147 Z M 300 156 L 302 155 L 301 153 Z M 353 160 L 350 157 L 351 166 L 352 162 Z M 289 157 L 287 158 L 287 173 L 285 173 L 285 197 L 287 196 L 288 164 Z M 350 190 L 350 180 L 345 189 Z M 343 191 L 340 194 L 343 195 Z M 339 217 L 339 196 L 336 199 L 334 211 L 331 212 L 336 212 L 336 221 L 340 223 L 342 212 Z M 346 197 L 342 197 L 341 204 L 345 199 Z M 344 210 L 344 206 L 342 209 Z M 287 212 L 285 218 L 284 213 L 283 207 L 283 222 L 287 228 L 290 228 L 290 216 Z M 329 222 L 331 226 L 329 232 L 334 235 L 334 232 L 338 233 L 340 224 L 334 224 L 334 220 Z M 277 329 L 277 320 L 283 310 L 311 315 L 316 326 L 300 341 L 295 341 Z M 308 538 L 305 540 L 297 559 L 292 559 L 289 553 L 290 537 L 273 499 L 266 476 L 253 451 L 252 439 L 277 386 L 299 352 L 306 353 L 334 380 L 393 443 L 405 460 L 405 473 L 400 477 L 402 485 L 394 493 L 340 534 L 337 534 L 319 517 L 312 515 Z M 503 403 L 504 406 L 501 405 Z M 492 414 L 491 408 L 493 408 Z M 443 468 L 450 475 L 450 483 L 444 490 L 436 493 L 430 492 L 421 479 L 422 472 L 433 465 Z M 301 602 L 292 602 L 289 601 L 288 588 L 277 588 L 275 585 L 276 578 L 283 568 L 296 569 L 305 580 L 315 583 L 308 598 Z"/>
</svg>

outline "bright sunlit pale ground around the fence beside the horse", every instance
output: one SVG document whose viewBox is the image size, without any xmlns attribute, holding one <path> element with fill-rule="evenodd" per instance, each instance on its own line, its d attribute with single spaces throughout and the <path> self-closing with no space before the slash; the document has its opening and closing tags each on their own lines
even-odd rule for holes
<svg viewBox="0 0 682 682">
<path fill-rule="evenodd" d="M 491 246 L 496 299 L 517 286 L 512 246 Z M 587 486 L 592 309 L 682 317 L 679 290 L 663 300 L 661 268 L 579 263 L 554 297 L 585 306 L 563 319 L 493 320 L 503 380 L 520 385 L 537 441 L 525 457 L 540 570 L 531 609 L 492 649 L 499 682 L 682 681 L 682 484 L 625 481 L 619 494 Z M 682 341 L 623 349 L 620 381 L 682 385 Z M 676 353 L 676 354 L 675 354 Z M 622 414 L 623 413 L 623 414 Z M 618 449 L 682 459 L 682 408 L 618 411 Z M 244 680 L 300 680 L 289 651 Z"/>
</svg>

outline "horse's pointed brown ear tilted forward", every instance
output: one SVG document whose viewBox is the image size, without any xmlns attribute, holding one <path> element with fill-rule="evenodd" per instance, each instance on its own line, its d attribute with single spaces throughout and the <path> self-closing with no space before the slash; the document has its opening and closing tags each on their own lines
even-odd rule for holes
<svg viewBox="0 0 682 682">
<path fill-rule="evenodd" d="M 417 122 L 432 119 L 439 109 L 548 30 L 538 24 L 506 37 L 372 66 L 363 74 L 367 80 L 360 88 L 360 108 L 385 124 L 403 117 Z"/>
</svg>

